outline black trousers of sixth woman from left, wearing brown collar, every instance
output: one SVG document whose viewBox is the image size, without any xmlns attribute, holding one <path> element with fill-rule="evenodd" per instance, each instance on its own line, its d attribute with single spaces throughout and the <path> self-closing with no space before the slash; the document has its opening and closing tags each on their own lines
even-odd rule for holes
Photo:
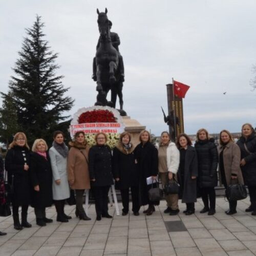
<svg viewBox="0 0 256 256">
<path fill-rule="evenodd" d="M 123 204 L 123 212 L 129 211 L 129 188 L 120 189 L 122 204 Z M 140 201 L 139 201 L 139 187 L 131 187 L 132 193 L 132 202 L 133 202 L 133 212 L 137 212 L 140 210 Z"/>
</svg>

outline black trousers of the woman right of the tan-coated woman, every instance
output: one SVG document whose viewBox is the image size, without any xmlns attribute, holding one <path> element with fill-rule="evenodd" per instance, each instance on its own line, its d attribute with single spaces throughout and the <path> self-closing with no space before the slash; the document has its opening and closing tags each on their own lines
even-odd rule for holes
<svg viewBox="0 0 256 256">
<path fill-rule="evenodd" d="M 97 216 L 108 214 L 109 190 L 110 186 L 93 187 L 92 189 Z"/>
</svg>

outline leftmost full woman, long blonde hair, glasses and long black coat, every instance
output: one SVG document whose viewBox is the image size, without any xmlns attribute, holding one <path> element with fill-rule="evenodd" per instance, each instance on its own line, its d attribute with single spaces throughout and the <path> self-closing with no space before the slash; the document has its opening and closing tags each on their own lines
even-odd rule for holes
<svg viewBox="0 0 256 256">
<path fill-rule="evenodd" d="M 24 133 L 16 133 L 5 158 L 8 182 L 13 184 L 12 217 L 14 228 L 31 227 L 27 221 L 28 207 L 31 203 L 30 153 L 27 137 Z M 19 222 L 18 207 L 22 206 L 22 224 Z"/>
</svg>

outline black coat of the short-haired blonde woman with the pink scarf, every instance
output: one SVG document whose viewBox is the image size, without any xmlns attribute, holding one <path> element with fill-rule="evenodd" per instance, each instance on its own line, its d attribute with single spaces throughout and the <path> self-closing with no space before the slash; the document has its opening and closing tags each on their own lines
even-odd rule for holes
<svg viewBox="0 0 256 256">
<path fill-rule="evenodd" d="M 47 160 L 31 153 L 30 175 L 32 182 L 32 207 L 49 207 L 52 205 L 52 168 L 49 154 Z M 39 191 L 34 190 L 34 186 L 39 185 Z"/>
</svg>

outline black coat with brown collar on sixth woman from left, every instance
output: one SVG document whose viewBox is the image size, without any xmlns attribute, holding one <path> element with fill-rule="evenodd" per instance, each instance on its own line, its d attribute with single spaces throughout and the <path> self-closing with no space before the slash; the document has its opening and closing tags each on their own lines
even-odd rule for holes
<svg viewBox="0 0 256 256">
<path fill-rule="evenodd" d="M 134 147 L 126 151 L 119 142 L 113 150 L 113 173 L 119 189 L 126 189 L 131 186 L 139 186 L 139 174 L 135 165 Z"/>
</svg>

